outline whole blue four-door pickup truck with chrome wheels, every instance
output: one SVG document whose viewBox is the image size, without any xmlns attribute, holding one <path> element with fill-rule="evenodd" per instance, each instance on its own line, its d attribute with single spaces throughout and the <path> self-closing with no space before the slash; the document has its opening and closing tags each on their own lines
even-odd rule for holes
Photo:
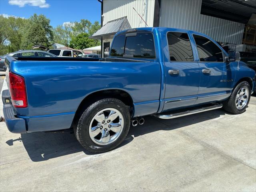
<svg viewBox="0 0 256 192">
<path fill-rule="evenodd" d="M 73 128 L 91 152 L 118 146 L 143 116 L 246 110 L 255 71 L 210 37 L 174 28 L 118 32 L 109 58 L 6 57 L 5 122 L 13 133 Z"/>
</svg>

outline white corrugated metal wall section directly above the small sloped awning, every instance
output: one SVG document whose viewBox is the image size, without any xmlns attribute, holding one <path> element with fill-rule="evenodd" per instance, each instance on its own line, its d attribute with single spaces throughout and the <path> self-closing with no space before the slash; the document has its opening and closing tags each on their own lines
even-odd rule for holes
<svg viewBox="0 0 256 192">
<path fill-rule="evenodd" d="M 127 16 L 132 28 L 153 26 L 155 0 L 103 0 L 103 25 L 108 21 Z M 146 6 L 148 4 L 148 6 Z M 138 14 L 133 10 L 133 7 Z M 147 12 L 147 14 L 146 14 Z"/>
</svg>

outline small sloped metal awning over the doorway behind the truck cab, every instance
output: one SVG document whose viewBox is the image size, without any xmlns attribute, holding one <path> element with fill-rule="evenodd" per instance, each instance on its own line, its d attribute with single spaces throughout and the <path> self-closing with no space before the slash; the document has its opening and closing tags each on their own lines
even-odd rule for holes
<svg viewBox="0 0 256 192">
<path fill-rule="evenodd" d="M 111 36 L 122 30 L 130 29 L 130 23 L 126 17 L 107 22 L 89 38 L 101 40 L 104 36 Z"/>
</svg>

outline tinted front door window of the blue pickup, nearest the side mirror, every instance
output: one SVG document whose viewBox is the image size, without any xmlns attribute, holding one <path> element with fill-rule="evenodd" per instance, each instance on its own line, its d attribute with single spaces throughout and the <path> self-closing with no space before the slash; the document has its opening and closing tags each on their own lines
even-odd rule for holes
<svg viewBox="0 0 256 192">
<path fill-rule="evenodd" d="M 200 35 L 193 36 L 200 61 L 223 62 L 222 50 L 214 42 Z"/>
</svg>

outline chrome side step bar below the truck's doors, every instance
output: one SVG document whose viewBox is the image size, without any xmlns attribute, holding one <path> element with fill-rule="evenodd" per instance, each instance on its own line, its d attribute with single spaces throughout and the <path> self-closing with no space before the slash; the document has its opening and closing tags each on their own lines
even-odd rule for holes
<svg viewBox="0 0 256 192">
<path fill-rule="evenodd" d="M 187 116 L 187 115 L 201 113 L 201 112 L 210 111 L 210 110 L 219 109 L 219 108 L 222 108 L 222 104 L 214 103 L 214 105 L 212 106 L 202 107 L 202 108 L 193 109 L 193 110 L 187 110 L 184 112 L 173 113 L 173 114 L 154 114 L 154 116 L 161 119 L 173 119 L 177 117 Z"/>
</svg>

